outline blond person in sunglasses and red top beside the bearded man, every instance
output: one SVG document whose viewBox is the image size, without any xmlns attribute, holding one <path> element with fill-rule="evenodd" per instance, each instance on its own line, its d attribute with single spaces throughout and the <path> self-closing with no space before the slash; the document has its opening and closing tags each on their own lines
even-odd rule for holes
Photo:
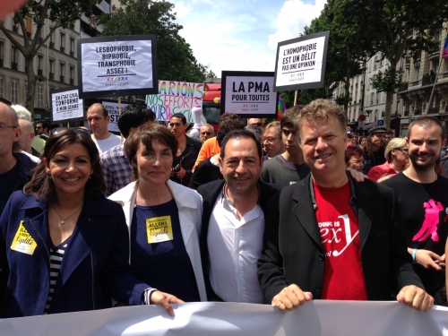
<svg viewBox="0 0 448 336">
<path fill-rule="evenodd" d="M 367 177 L 372 181 L 382 182 L 384 179 L 382 178 L 381 181 L 379 179 L 383 175 L 392 177 L 409 167 L 409 154 L 406 140 L 404 138 L 392 139 L 386 146 L 384 158 L 386 162 L 383 165 L 375 166 L 369 170 Z"/>
</svg>

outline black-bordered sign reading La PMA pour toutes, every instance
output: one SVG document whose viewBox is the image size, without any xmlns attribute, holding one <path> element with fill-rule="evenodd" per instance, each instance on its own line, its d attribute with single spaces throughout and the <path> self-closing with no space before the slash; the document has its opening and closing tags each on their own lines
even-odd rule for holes
<svg viewBox="0 0 448 336">
<path fill-rule="evenodd" d="M 273 91 L 274 73 L 223 71 L 221 77 L 221 111 L 241 117 L 276 117 L 279 95 Z"/>
</svg>

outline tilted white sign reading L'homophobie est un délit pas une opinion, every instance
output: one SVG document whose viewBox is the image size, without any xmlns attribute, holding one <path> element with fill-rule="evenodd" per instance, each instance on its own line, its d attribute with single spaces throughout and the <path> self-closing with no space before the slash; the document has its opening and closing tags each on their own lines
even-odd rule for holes
<svg viewBox="0 0 448 336">
<path fill-rule="evenodd" d="M 323 88 L 330 31 L 282 41 L 277 47 L 274 91 Z"/>
</svg>

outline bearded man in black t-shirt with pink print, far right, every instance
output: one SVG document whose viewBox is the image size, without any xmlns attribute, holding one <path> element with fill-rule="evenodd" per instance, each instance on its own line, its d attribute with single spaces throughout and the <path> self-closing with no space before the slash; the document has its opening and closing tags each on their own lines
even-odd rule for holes
<svg viewBox="0 0 448 336">
<path fill-rule="evenodd" d="M 408 252 L 427 293 L 446 305 L 445 255 L 448 236 L 448 178 L 436 174 L 446 142 L 444 126 L 431 116 L 409 125 L 409 168 L 384 182 L 399 202 Z"/>
</svg>

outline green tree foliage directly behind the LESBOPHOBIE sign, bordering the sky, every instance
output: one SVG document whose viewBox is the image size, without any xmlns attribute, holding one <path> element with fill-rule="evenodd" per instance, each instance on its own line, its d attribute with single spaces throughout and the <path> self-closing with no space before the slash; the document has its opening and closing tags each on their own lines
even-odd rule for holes
<svg viewBox="0 0 448 336">
<path fill-rule="evenodd" d="M 207 67 L 198 63 L 175 22 L 174 4 L 168 1 L 120 0 L 115 13 L 99 16 L 101 36 L 154 34 L 157 37 L 159 78 L 170 81 L 203 82 Z"/>
</svg>

